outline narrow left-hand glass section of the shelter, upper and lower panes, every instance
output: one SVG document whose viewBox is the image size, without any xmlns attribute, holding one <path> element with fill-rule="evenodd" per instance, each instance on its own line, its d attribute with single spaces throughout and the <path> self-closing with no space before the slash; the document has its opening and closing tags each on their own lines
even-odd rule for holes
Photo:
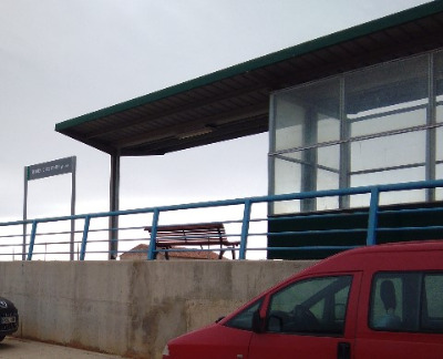
<svg viewBox="0 0 443 359">
<path fill-rule="evenodd" d="M 319 148 L 318 144 L 340 140 L 340 79 L 282 92 L 275 96 L 274 106 L 274 193 L 310 192 L 337 185 L 339 151 Z M 280 178 L 288 172 L 292 180 Z M 275 209 L 287 213 L 296 208 L 313 211 L 317 203 L 305 199 Z"/>
</svg>

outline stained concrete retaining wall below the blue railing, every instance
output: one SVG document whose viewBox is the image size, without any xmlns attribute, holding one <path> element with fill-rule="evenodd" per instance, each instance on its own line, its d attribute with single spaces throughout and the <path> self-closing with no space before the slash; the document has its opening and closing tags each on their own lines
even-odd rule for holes
<svg viewBox="0 0 443 359">
<path fill-rule="evenodd" d="M 312 261 L 0 263 L 18 336 L 132 358 L 213 322 Z"/>
</svg>

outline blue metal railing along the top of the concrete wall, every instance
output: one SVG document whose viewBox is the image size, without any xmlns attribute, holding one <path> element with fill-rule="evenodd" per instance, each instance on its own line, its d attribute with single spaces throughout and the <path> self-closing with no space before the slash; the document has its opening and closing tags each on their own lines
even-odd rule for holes
<svg viewBox="0 0 443 359">
<path fill-rule="evenodd" d="M 109 236 L 103 236 L 103 234 L 113 233 L 119 234 L 119 244 L 122 247 L 122 244 L 125 244 L 128 249 L 117 250 L 117 253 L 113 253 L 113 255 L 131 253 L 136 255 L 137 253 L 143 254 L 145 259 L 155 259 L 159 254 L 172 254 L 172 253 L 206 253 L 214 252 L 217 248 L 207 247 L 207 248 L 156 248 L 156 233 L 157 226 L 165 224 L 165 220 L 162 222 L 163 216 L 169 216 L 171 218 L 183 212 L 190 212 L 192 219 L 188 219 L 187 223 L 199 223 L 202 212 L 197 215 L 194 215 L 194 211 L 204 211 L 206 215 L 208 212 L 213 209 L 223 209 L 229 215 L 231 213 L 236 213 L 235 216 L 228 216 L 224 218 L 222 222 L 225 227 L 231 227 L 235 229 L 226 230 L 226 237 L 228 239 L 239 239 L 239 246 L 235 247 L 234 250 L 238 253 L 239 259 L 246 259 L 247 254 L 257 253 L 268 253 L 268 250 L 318 250 L 318 249 L 347 249 L 350 247 L 356 247 L 359 245 L 331 245 L 331 246 L 317 246 L 317 245 L 305 245 L 293 247 L 290 243 L 284 246 L 268 246 L 269 237 L 278 237 L 278 236 L 292 236 L 299 237 L 307 234 L 337 234 L 338 236 L 343 233 L 350 232 L 359 232 L 365 233 L 365 245 L 374 245 L 378 243 L 378 234 L 381 232 L 389 230 L 411 230 L 411 229 L 420 229 L 420 230 L 442 230 L 443 226 L 433 225 L 427 227 L 395 227 L 395 228 L 382 228 L 379 226 L 379 214 L 380 214 L 380 196 L 383 193 L 388 192 L 403 192 L 403 191 L 415 191 L 415 189 L 426 189 L 426 188 L 437 188 L 443 187 L 443 181 L 423 181 L 423 182 L 413 182 L 413 183 L 401 183 L 401 184 L 389 184 L 389 185 L 377 185 L 377 186 L 364 186 L 364 187 L 353 187 L 353 188 L 343 188 L 343 189 L 331 189 L 331 191 L 318 191 L 318 192 L 306 192 L 306 193 L 293 193 L 293 194 L 285 194 L 285 195 L 274 195 L 274 196 L 260 196 L 260 197 L 250 197 L 250 198 L 237 198 L 237 199 L 225 199 L 217 202 L 205 202 L 205 203 L 192 203 L 184 205 L 171 205 L 171 206 L 158 206 L 158 207 L 150 207 L 150 208 L 137 208 L 137 209 L 128 209 L 128 211 L 119 211 L 119 212 L 105 212 L 105 213 L 90 213 L 82 214 L 75 216 L 62 216 L 62 217 L 51 217 L 51 218 L 38 218 L 30 220 L 17 220 L 17 222 L 7 222 L 0 223 L 0 259 L 9 258 L 16 259 L 16 255 L 22 256 L 22 259 L 32 260 L 33 257 L 43 257 L 43 259 L 50 257 L 51 259 L 60 259 L 63 255 L 71 254 L 70 250 L 64 250 L 63 248 L 70 244 L 69 239 L 63 240 L 62 237 L 66 237 L 71 235 L 71 230 L 54 230 L 53 227 L 56 227 L 58 224 L 71 223 L 71 220 L 75 220 L 76 227 L 79 227 L 79 223 L 83 226 L 82 230 L 75 230 L 75 244 L 78 244 L 78 259 L 84 260 L 91 258 L 99 258 L 97 256 L 110 255 L 111 249 L 106 249 L 109 245 Z M 274 220 L 274 216 L 268 215 L 268 208 L 270 205 L 290 201 L 303 201 L 308 198 L 322 198 L 322 197 L 340 197 L 340 196 L 354 196 L 354 195 L 369 195 L 370 199 L 365 208 L 364 213 L 368 216 L 367 226 L 363 228 L 348 228 L 348 229 L 334 229 L 334 228 L 323 228 L 323 229 L 306 229 L 306 230 L 281 230 L 271 233 L 268 230 L 269 222 Z M 400 196 L 402 198 L 402 196 Z M 404 199 L 404 198 L 402 198 Z M 404 201 L 401 201 L 404 203 Z M 255 206 L 261 206 L 258 213 L 254 213 Z M 236 211 L 233 211 L 236 208 Z M 354 213 L 358 213 L 359 208 L 356 209 Z M 435 213 L 443 211 L 442 206 L 433 206 L 425 208 L 406 208 L 401 209 L 402 213 Z M 395 212 L 395 211 L 393 211 Z M 399 212 L 399 211 L 398 211 Z M 387 212 L 383 212 L 387 213 Z M 287 218 L 293 220 L 297 218 L 298 214 L 291 213 L 287 215 Z M 311 218 L 316 217 L 320 218 L 328 216 L 328 214 L 322 214 L 319 212 L 312 213 L 303 213 L 302 218 Z M 106 219 L 111 216 L 119 216 L 120 222 L 124 218 L 128 218 L 132 216 L 142 216 L 142 223 L 119 226 L 119 228 L 109 228 L 106 226 L 103 227 L 92 227 L 94 222 L 100 222 L 100 219 Z M 333 216 L 333 215 L 332 215 Z M 171 224 L 171 218 L 168 219 L 168 224 Z M 198 218 L 197 220 L 195 218 Z M 285 219 L 285 216 L 279 217 L 280 220 Z M 209 219 L 214 222 L 220 222 L 217 215 Z M 130 220 L 131 222 L 131 220 Z M 205 222 L 207 222 L 205 219 Z M 442 220 L 443 222 L 443 220 Z M 183 222 L 181 222 L 183 224 Z M 151 237 L 148 238 L 145 235 L 146 232 L 142 232 L 145 226 L 150 226 L 151 228 Z M 30 234 L 24 230 L 24 233 L 20 233 L 18 228 L 31 226 Z M 50 230 L 40 229 L 42 226 L 49 226 Z M 264 229 L 264 227 L 266 227 Z M 124 233 L 131 233 L 128 236 L 122 236 Z M 135 235 L 134 235 L 135 234 Z M 443 234 L 443 232 L 442 232 Z M 142 237 L 140 237 L 142 236 Z M 443 236 L 442 236 L 443 237 Z M 21 239 L 23 239 L 21 242 Z M 114 238 L 114 240 L 117 240 Z M 257 243 L 265 242 L 265 246 L 257 246 Z M 132 244 L 144 244 L 148 247 L 143 247 L 141 249 L 134 249 L 131 247 Z M 42 248 L 43 250 L 35 250 L 37 247 Z M 48 252 L 48 247 L 56 249 Z M 11 249 L 12 248 L 12 249 Z M 8 252 L 9 250 L 9 252 Z M 17 250 L 17 252 L 16 252 Z M 226 250 L 231 250 L 226 249 Z M 100 258 L 99 258 L 100 259 Z"/>
</svg>

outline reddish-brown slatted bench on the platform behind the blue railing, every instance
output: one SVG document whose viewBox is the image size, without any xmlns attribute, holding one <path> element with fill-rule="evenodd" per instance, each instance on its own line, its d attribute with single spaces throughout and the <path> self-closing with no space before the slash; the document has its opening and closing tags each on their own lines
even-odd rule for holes
<svg viewBox="0 0 443 359">
<path fill-rule="evenodd" d="M 145 227 L 145 230 L 152 233 L 152 227 Z M 155 245 L 157 248 L 173 249 L 179 246 L 218 246 L 218 258 L 222 259 L 224 253 L 230 249 L 233 259 L 235 259 L 235 247 L 240 244 L 239 240 L 231 242 L 226 238 L 225 227 L 223 223 L 199 223 L 184 224 L 173 226 L 157 226 L 157 235 Z M 166 259 L 169 259 L 168 253 L 165 252 Z"/>
</svg>

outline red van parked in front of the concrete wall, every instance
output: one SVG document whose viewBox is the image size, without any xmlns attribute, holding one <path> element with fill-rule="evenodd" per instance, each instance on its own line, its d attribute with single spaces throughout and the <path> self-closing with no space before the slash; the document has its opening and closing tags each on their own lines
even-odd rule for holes
<svg viewBox="0 0 443 359">
<path fill-rule="evenodd" d="M 442 359 L 443 240 L 352 249 L 171 340 L 164 359 Z"/>
</svg>

